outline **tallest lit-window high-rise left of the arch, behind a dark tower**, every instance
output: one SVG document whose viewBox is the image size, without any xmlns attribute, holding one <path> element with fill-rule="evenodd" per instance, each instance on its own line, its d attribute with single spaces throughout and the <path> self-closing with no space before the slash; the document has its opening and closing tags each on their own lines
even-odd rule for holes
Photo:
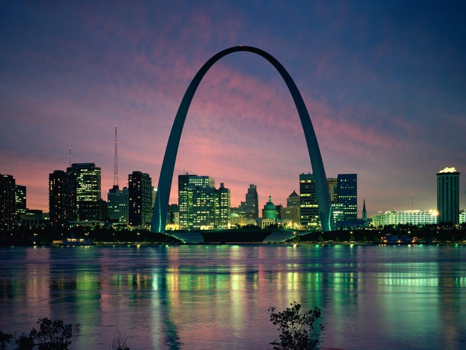
<svg viewBox="0 0 466 350">
<path fill-rule="evenodd" d="M 96 203 L 83 202 L 97 202 L 100 199 L 100 167 L 96 167 L 96 163 L 73 163 L 71 167 L 66 168 L 66 171 L 68 174 L 75 175 L 76 178 L 78 219 L 82 221 L 98 220 L 99 212 Z"/>
</svg>

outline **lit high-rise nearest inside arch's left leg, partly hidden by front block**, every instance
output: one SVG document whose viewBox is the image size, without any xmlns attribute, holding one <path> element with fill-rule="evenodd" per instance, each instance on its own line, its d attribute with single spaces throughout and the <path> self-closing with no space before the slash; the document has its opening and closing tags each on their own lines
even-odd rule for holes
<svg viewBox="0 0 466 350">
<path fill-rule="evenodd" d="M 210 176 L 178 175 L 178 215 L 181 230 L 193 228 L 192 196 L 193 189 L 215 188 L 215 179 Z"/>
</svg>

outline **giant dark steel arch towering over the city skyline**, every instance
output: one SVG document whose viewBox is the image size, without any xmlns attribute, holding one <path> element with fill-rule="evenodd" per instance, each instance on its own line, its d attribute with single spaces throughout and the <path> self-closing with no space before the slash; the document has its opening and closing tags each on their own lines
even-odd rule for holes
<svg viewBox="0 0 466 350">
<path fill-rule="evenodd" d="M 229 55 L 233 52 L 247 51 L 264 57 L 268 62 L 272 63 L 276 70 L 280 73 L 281 77 L 288 86 L 288 89 L 295 101 L 296 109 L 298 110 L 299 118 L 301 119 L 302 130 L 308 145 L 309 158 L 311 160 L 312 172 L 315 178 L 315 191 L 317 194 L 317 203 L 319 204 L 319 216 L 322 224 L 323 231 L 334 230 L 334 221 L 332 215 L 332 208 L 330 205 L 330 196 L 327 186 L 327 178 L 323 168 L 322 156 L 315 137 L 314 127 L 312 126 L 309 117 L 308 109 L 304 104 L 302 96 L 296 87 L 295 82 L 288 74 L 287 70 L 278 62 L 274 56 L 267 52 L 251 46 L 234 46 L 229 49 L 220 51 L 218 54 L 212 56 L 197 72 L 189 84 L 185 92 L 185 96 L 181 100 L 178 112 L 176 113 L 175 121 L 171 127 L 170 137 L 168 138 L 167 148 L 165 149 L 164 161 L 162 169 L 160 170 L 160 177 L 158 179 L 157 195 L 155 197 L 154 212 L 152 215 L 151 232 L 165 232 L 165 224 L 167 220 L 168 201 L 170 198 L 171 182 L 173 180 L 173 171 L 175 169 L 175 161 L 178 153 L 179 140 L 183 125 L 185 124 L 186 114 L 188 113 L 189 106 L 191 105 L 194 93 L 199 86 L 202 78 L 206 75 L 207 71 L 212 65 L 223 56 Z"/>
</svg>

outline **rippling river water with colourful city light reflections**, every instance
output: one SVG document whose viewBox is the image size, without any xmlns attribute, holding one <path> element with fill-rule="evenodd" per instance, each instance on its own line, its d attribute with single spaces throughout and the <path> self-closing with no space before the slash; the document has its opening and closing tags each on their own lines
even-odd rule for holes
<svg viewBox="0 0 466 350">
<path fill-rule="evenodd" d="M 466 348 L 466 246 L 0 248 L 0 330 L 73 323 L 75 349 L 267 349 L 270 306 L 323 309 L 323 348 Z"/>
</svg>

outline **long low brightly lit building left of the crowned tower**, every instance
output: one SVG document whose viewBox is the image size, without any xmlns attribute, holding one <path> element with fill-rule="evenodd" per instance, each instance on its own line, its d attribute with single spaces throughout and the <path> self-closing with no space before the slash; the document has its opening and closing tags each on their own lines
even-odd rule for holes
<svg viewBox="0 0 466 350">
<path fill-rule="evenodd" d="M 439 213 L 437 210 L 403 210 L 385 211 L 384 214 L 372 215 L 371 224 L 378 228 L 386 225 L 412 224 L 419 227 L 425 224 L 437 224 Z"/>
</svg>

